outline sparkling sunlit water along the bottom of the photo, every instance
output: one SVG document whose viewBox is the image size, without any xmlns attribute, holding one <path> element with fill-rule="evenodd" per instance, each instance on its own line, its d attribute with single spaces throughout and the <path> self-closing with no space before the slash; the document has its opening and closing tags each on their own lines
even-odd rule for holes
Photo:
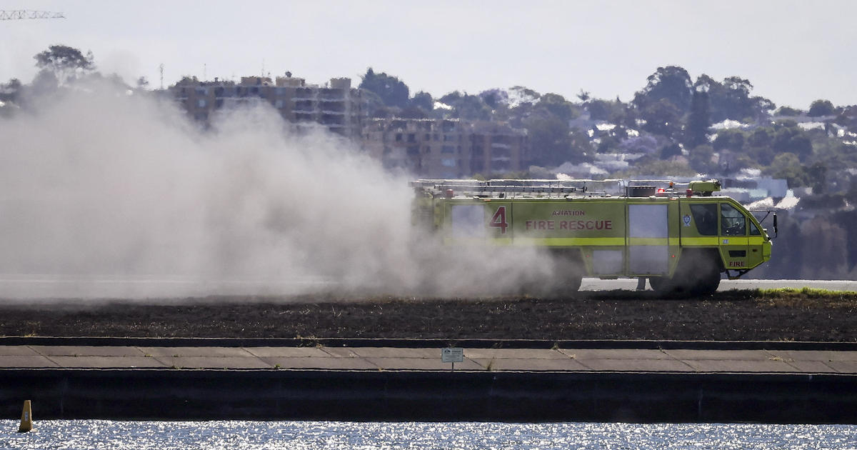
<svg viewBox="0 0 857 450">
<path fill-rule="evenodd" d="M 0 448 L 23 449 L 857 449 L 855 425 L 747 423 L 353 423 L 0 421 Z"/>
</svg>

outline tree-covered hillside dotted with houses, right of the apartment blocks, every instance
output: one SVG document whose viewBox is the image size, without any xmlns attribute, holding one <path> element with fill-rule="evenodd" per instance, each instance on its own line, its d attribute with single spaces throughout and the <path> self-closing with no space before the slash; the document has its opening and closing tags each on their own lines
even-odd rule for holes
<svg viewBox="0 0 857 450">
<path fill-rule="evenodd" d="M 694 80 L 679 66 L 657 68 L 628 102 L 595 99 L 584 90 L 577 99 L 566 99 L 520 86 L 476 94 L 454 91 L 439 98 L 418 92 L 411 97 L 404 81 L 371 68 L 360 87 L 374 94 L 369 101 L 373 117 L 503 121 L 527 129 L 533 165 L 590 162 L 597 153 L 644 153 L 631 173 L 611 175 L 728 175 L 758 168 L 787 179 L 790 187 L 844 193 L 850 186 L 830 186 L 826 175 L 857 163 L 854 145 L 835 133 L 857 131 L 854 106 L 837 107 L 818 99 L 806 110 L 776 109 L 770 99 L 753 95 L 752 82 L 745 78 L 716 81 L 703 74 Z M 435 108 L 435 102 L 443 107 Z M 590 120 L 577 124 L 575 119 L 581 117 Z M 822 118 L 825 126 L 801 128 L 798 117 Z M 592 121 L 615 126 L 593 138 L 587 128 Z M 711 125 L 723 121 L 738 127 L 711 131 Z"/>
</svg>

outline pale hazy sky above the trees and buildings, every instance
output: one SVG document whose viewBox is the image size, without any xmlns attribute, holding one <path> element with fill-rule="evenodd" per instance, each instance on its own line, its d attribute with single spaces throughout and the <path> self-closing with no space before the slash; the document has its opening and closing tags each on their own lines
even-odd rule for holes
<svg viewBox="0 0 857 450">
<path fill-rule="evenodd" d="M 0 0 L 63 12 L 0 21 L 0 81 L 35 74 L 48 45 L 91 50 L 102 72 L 159 86 L 183 75 L 294 76 L 322 84 L 375 71 L 440 96 L 523 85 L 570 99 L 632 98 L 658 66 L 740 75 L 756 95 L 806 109 L 857 104 L 857 2 Z"/>
</svg>

